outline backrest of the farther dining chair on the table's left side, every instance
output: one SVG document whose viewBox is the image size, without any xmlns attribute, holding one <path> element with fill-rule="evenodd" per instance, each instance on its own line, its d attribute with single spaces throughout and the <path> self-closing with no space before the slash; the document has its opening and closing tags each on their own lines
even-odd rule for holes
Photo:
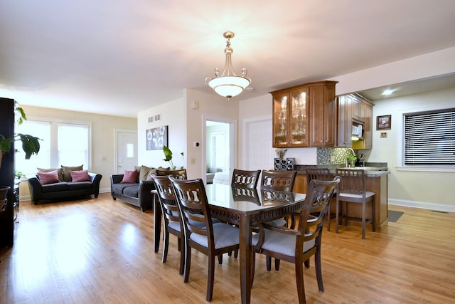
<svg viewBox="0 0 455 304">
<path fill-rule="evenodd" d="M 153 176 L 155 189 L 158 192 L 158 200 L 163 211 L 164 219 L 167 221 L 180 222 L 176 196 L 173 193 L 173 187 L 167 175 Z"/>
</svg>

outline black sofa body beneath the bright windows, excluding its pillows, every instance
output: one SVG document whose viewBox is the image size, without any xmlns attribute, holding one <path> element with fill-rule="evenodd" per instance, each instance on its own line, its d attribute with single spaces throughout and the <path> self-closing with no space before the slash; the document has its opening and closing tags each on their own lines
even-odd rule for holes
<svg viewBox="0 0 455 304">
<path fill-rule="evenodd" d="M 53 184 L 41 184 L 38 176 L 28 177 L 30 195 L 34 204 L 43 204 L 55 200 L 78 199 L 83 196 L 100 193 L 102 175 L 88 172 L 90 181 L 87 182 L 56 182 Z"/>
</svg>

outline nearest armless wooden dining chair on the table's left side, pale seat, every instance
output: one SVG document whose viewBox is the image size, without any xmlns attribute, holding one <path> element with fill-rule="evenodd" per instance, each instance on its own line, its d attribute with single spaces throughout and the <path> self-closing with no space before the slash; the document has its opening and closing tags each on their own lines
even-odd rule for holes
<svg viewBox="0 0 455 304">
<path fill-rule="evenodd" d="M 239 229 L 225 223 L 213 223 L 210 206 L 202 179 L 179 180 L 169 177 L 180 209 L 185 236 L 185 283 L 188 282 L 191 268 L 191 248 L 208 256 L 208 279 L 206 300 L 213 297 L 215 278 L 215 256 L 239 249 Z M 204 227 L 196 225 L 203 224 Z M 218 263 L 221 260 L 218 259 Z"/>
</svg>

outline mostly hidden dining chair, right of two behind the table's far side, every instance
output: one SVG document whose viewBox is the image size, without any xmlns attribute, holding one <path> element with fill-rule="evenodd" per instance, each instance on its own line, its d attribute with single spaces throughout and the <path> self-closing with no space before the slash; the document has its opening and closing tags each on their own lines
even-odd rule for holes
<svg viewBox="0 0 455 304">
<path fill-rule="evenodd" d="M 272 171 L 262 170 L 261 190 L 272 190 L 282 192 L 292 192 L 294 182 L 296 181 L 297 172 L 293 171 Z M 291 226 L 294 226 L 294 215 L 290 214 L 283 219 L 268 221 L 267 224 L 274 226 L 288 226 L 288 219 L 291 220 Z M 272 258 L 266 258 L 267 271 L 272 269 Z M 279 260 L 275 259 L 275 270 L 279 270 Z"/>
</svg>

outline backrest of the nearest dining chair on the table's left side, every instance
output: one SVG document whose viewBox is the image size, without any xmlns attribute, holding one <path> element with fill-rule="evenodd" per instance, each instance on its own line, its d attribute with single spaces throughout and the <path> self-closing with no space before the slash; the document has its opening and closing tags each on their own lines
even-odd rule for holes
<svg viewBox="0 0 455 304">
<path fill-rule="evenodd" d="M 208 239 L 209 250 L 214 250 L 213 222 L 203 180 L 168 178 L 173 185 L 178 208 L 181 211 L 187 241 L 192 242 L 191 234 L 199 234 Z"/>
</svg>

